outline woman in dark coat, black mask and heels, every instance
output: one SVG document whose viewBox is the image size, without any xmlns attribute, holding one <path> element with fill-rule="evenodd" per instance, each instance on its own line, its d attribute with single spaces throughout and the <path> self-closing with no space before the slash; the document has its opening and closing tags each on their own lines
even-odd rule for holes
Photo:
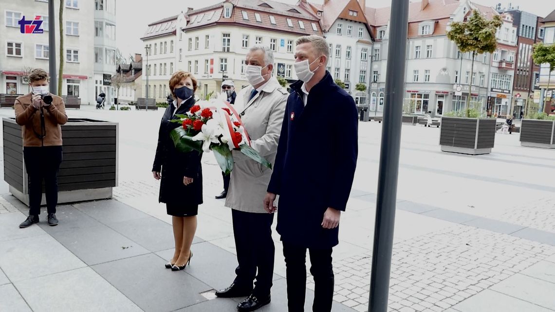
<svg viewBox="0 0 555 312">
<path fill-rule="evenodd" d="M 171 76 L 169 89 L 174 101 L 166 108 L 160 123 L 152 168 L 154 179 L 162 179 L 159 202 L 166 204 L 172 216 L 175 253 L 165 267 L 173 271 L 183 270 L 193 256 L 191 244 L 196 232 L 196 214 L 203 203 L 203 173 L 201 153 L 182 153 L 175 148 L 170 132 L 181 124 L 169 120 L 178 119 L 175 114 L 185 114 L 193 107 L 196 87 L 196 79 L 190 73 L 178 71 Z"/>
</svg>

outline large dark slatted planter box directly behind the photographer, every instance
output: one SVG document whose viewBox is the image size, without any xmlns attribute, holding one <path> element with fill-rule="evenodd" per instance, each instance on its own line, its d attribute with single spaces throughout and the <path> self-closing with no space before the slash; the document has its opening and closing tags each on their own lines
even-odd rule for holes
<svg viewBox="0 0 555 312">
<path fill-rule="evenodd" d="M 2 123 L 4 181 L 10 193 L 29 205 L 21 126 L 14 118 L 3 118 Z M 62 125 L 62 138 L 58 204 L 112 198 L 112 188 L 118 185 L 118 124 L 69 118 Z"/>
</svg>

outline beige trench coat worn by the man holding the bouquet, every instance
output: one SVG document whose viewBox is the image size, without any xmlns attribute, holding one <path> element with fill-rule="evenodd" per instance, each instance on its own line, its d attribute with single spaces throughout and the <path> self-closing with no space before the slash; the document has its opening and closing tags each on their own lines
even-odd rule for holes
<svg viewBox="0 0 555 312">
<path fill-rule="evenodd" d="M 249 100 L 252 90 L 251 85 L 240 90 L 234 106 L 249 133 L 251 147 L 274 164 L 289 93 L 275 77 L 270 78 L 261 92 Z M 263 200 L 272 170 L 236 150 L 233 151 L 233 159 L 235 164 L 225 207 L 242 212 L 266 213 Z"/>
</svg>

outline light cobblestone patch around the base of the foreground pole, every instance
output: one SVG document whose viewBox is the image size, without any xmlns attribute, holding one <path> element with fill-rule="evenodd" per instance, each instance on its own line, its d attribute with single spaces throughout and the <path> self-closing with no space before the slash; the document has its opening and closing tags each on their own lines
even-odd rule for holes
<svg viewBox="0 0 555 312">
<path fill-rule="evenodd" d="M 555 246 L 465 225 L 396 243 L 389 310 L 443 311 L 553 254 Z M 367 310 L 371 261 L 368 252 L 334 262 L 334 300 Z"/>
</svg>

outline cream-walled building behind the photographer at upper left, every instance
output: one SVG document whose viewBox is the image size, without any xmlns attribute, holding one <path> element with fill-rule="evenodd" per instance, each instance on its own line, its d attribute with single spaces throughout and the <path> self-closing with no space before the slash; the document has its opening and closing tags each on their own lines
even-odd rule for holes
<svg viewBox="0 0 555 312">
<path fill-rule="evenodd" d="M 55 1 L 55 12 L 59 12 Z M 93 7 L 78 0 L 64 1 L 64 72 L 61 95 L 75 95 L 82 104 L 94 103 Z M 3 24 L 0 31 L 0 93 L 30 92 L 24 77 L 30 69 L 49 71 L 48 57 L 59 54 L 59 26 L 56 19 L 56 51 L 48 46 L 49 17 L 45 0 L 2 2 Z M 25 17 L 43 21 L 43 33 L 22 33 L 18 21 Z"/>
</svg>

